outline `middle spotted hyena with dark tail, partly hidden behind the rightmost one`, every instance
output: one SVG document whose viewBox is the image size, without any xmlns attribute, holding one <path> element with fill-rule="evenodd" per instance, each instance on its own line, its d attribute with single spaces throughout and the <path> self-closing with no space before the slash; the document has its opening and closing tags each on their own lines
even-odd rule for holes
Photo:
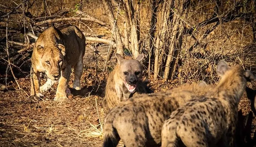
<svg viewBox="0 0 256 147">
<path fill-rule="evenodd" d="M 117 146 L 120 139 L 126 147 L 160 146 L 164 120 L 173 110 L 210 88 L 200 82 L 165 92 L 139 94 L 121 102 L 105 119 L 103 146 Z"/>
</svg>

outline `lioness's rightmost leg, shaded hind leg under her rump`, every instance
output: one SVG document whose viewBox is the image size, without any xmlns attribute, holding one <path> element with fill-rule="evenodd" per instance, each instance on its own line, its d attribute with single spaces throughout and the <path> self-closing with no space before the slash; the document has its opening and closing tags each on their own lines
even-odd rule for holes
<svg viewBox="0 0 256 147">
<path fill-rule="evenodd" d="M 76 63 L 74 70 L 75 70 L 75 79 L 74 79 L 74 84 L 73 88 L 76 90 L 80 90 L 80 79 L 81 75 L 83 73 L 83 57 L 79 57 L 78 62 Z"/>
</svg>

